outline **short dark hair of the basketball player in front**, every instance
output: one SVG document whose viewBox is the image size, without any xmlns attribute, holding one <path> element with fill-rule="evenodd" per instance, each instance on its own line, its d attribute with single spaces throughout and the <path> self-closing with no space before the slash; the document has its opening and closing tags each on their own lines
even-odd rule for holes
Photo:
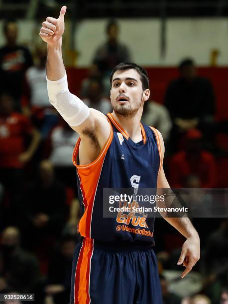
<svg viewBox="0 0 228 304">
<path fill-rule="evenodd" d="M 133 69 L 135 70 L 139 76 L 140 76 L 140 80 L 142 81 L 142 89 L 143 91 L 147 88 L 149 88 L 149 76 L 147 74 L 147 72 L 139 67 L 138 65 L 134 64 L 134 63 L 130 63 L 130 62 L 121 62 L 120 64 L 118 64 L 117 66 L 114 67 L 112 74 L 110 76 L 110 84 L 112 86 L 112 81 L 113 81 L 113 75 L 116 71 L 126 71 L 126 70 L 130 70 Z"/>
</svg>

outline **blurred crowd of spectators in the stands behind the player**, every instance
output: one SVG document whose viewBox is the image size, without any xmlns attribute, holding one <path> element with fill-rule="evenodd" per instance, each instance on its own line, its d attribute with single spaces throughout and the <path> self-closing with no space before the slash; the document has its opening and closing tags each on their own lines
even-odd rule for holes
<svg viewBox="0 0 228 304">
<path fill-rule="evenodd" d="M 72 163 L 78 135 L 50 105 L 46 46 L 30 51 L 17 44 L 15 20 L 3 24 L 0 48 L 0 293 L 35 293 L 35 303 L 69 302 L 71 264 L 78 242 L 80 207 Z M 130 62 L 119 27 L 110 20 L 104 44 L 94 50 L 79 97 L 90 107 L 112 112 L 109 75 Z M 216 144 L 227 121 L 216 121 L 210 79 L 184 59 L 163 104 L 150 100 L 142 121 L 157 128 L 166 145 L 164 160 L 172 187 L 226 187 L 221 180 L 228 151 Z M 222 160 L 221 160 L 222 159 Z M 156 219 L 155 242 L 164 304 L 228 304 L 228 220 L 193 219 L 202 257 L 186 279 L 176 265 L 184 238 Z M 19 303 L 19 302 L 18 302 Z"/>
</svg>

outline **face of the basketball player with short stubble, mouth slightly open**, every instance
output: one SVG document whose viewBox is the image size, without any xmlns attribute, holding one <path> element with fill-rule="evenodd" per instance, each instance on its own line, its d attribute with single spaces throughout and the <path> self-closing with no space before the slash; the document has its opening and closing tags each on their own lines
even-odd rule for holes
<svg viewBox="0 0 228 304">
<path fill-rule="evenodd" d="M 143 91 L 140 76 L 134 69 L 116 71 L 111 88 L 111 103 L 114 112 L 133 117 L 149 98 L 149 89 Z"/>
</svg>

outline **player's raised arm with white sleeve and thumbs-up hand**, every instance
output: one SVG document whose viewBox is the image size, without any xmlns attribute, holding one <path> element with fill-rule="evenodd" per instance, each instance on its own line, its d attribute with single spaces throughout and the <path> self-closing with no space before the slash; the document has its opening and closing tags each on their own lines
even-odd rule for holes
<svg viewBox="0 0 228 304">
<path fill-rule="evenodd" d="M 62 58 L 62 35 L 66 6 L 59 17 L 47 17 L 42 23 L 40 37 L 47 43 L 47 87 L 50 103 L 57 109 L 73 130 L 79 133 L 80 164 L 93 161 L 104 147 L 110 135 L 110 124 L 106 116 L 88 108 L 68 89 L 67 75 Z M 83 159 L 83 155 L 86 155 Z"/>
</svg>

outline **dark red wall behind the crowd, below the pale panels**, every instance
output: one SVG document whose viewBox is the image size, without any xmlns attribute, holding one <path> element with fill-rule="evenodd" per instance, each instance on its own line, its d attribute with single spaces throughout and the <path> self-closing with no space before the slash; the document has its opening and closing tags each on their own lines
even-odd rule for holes
<svg viewBox="0 0 228 304">
<path fill-rule="evenodd" d="M 166 87 L 170 80 L 178 76 L 176 68 L 147 68 L 153 100 L 162 103 Z M 87 69 L 69 68 L 68 83 L 72 93 L 79 93 L 82 80 L 87 77 Z M 199 68 L 198 74 L 211 79 L 217 101 L 217 119 L 228 118 L 228 67 Z"/>
</svg>

